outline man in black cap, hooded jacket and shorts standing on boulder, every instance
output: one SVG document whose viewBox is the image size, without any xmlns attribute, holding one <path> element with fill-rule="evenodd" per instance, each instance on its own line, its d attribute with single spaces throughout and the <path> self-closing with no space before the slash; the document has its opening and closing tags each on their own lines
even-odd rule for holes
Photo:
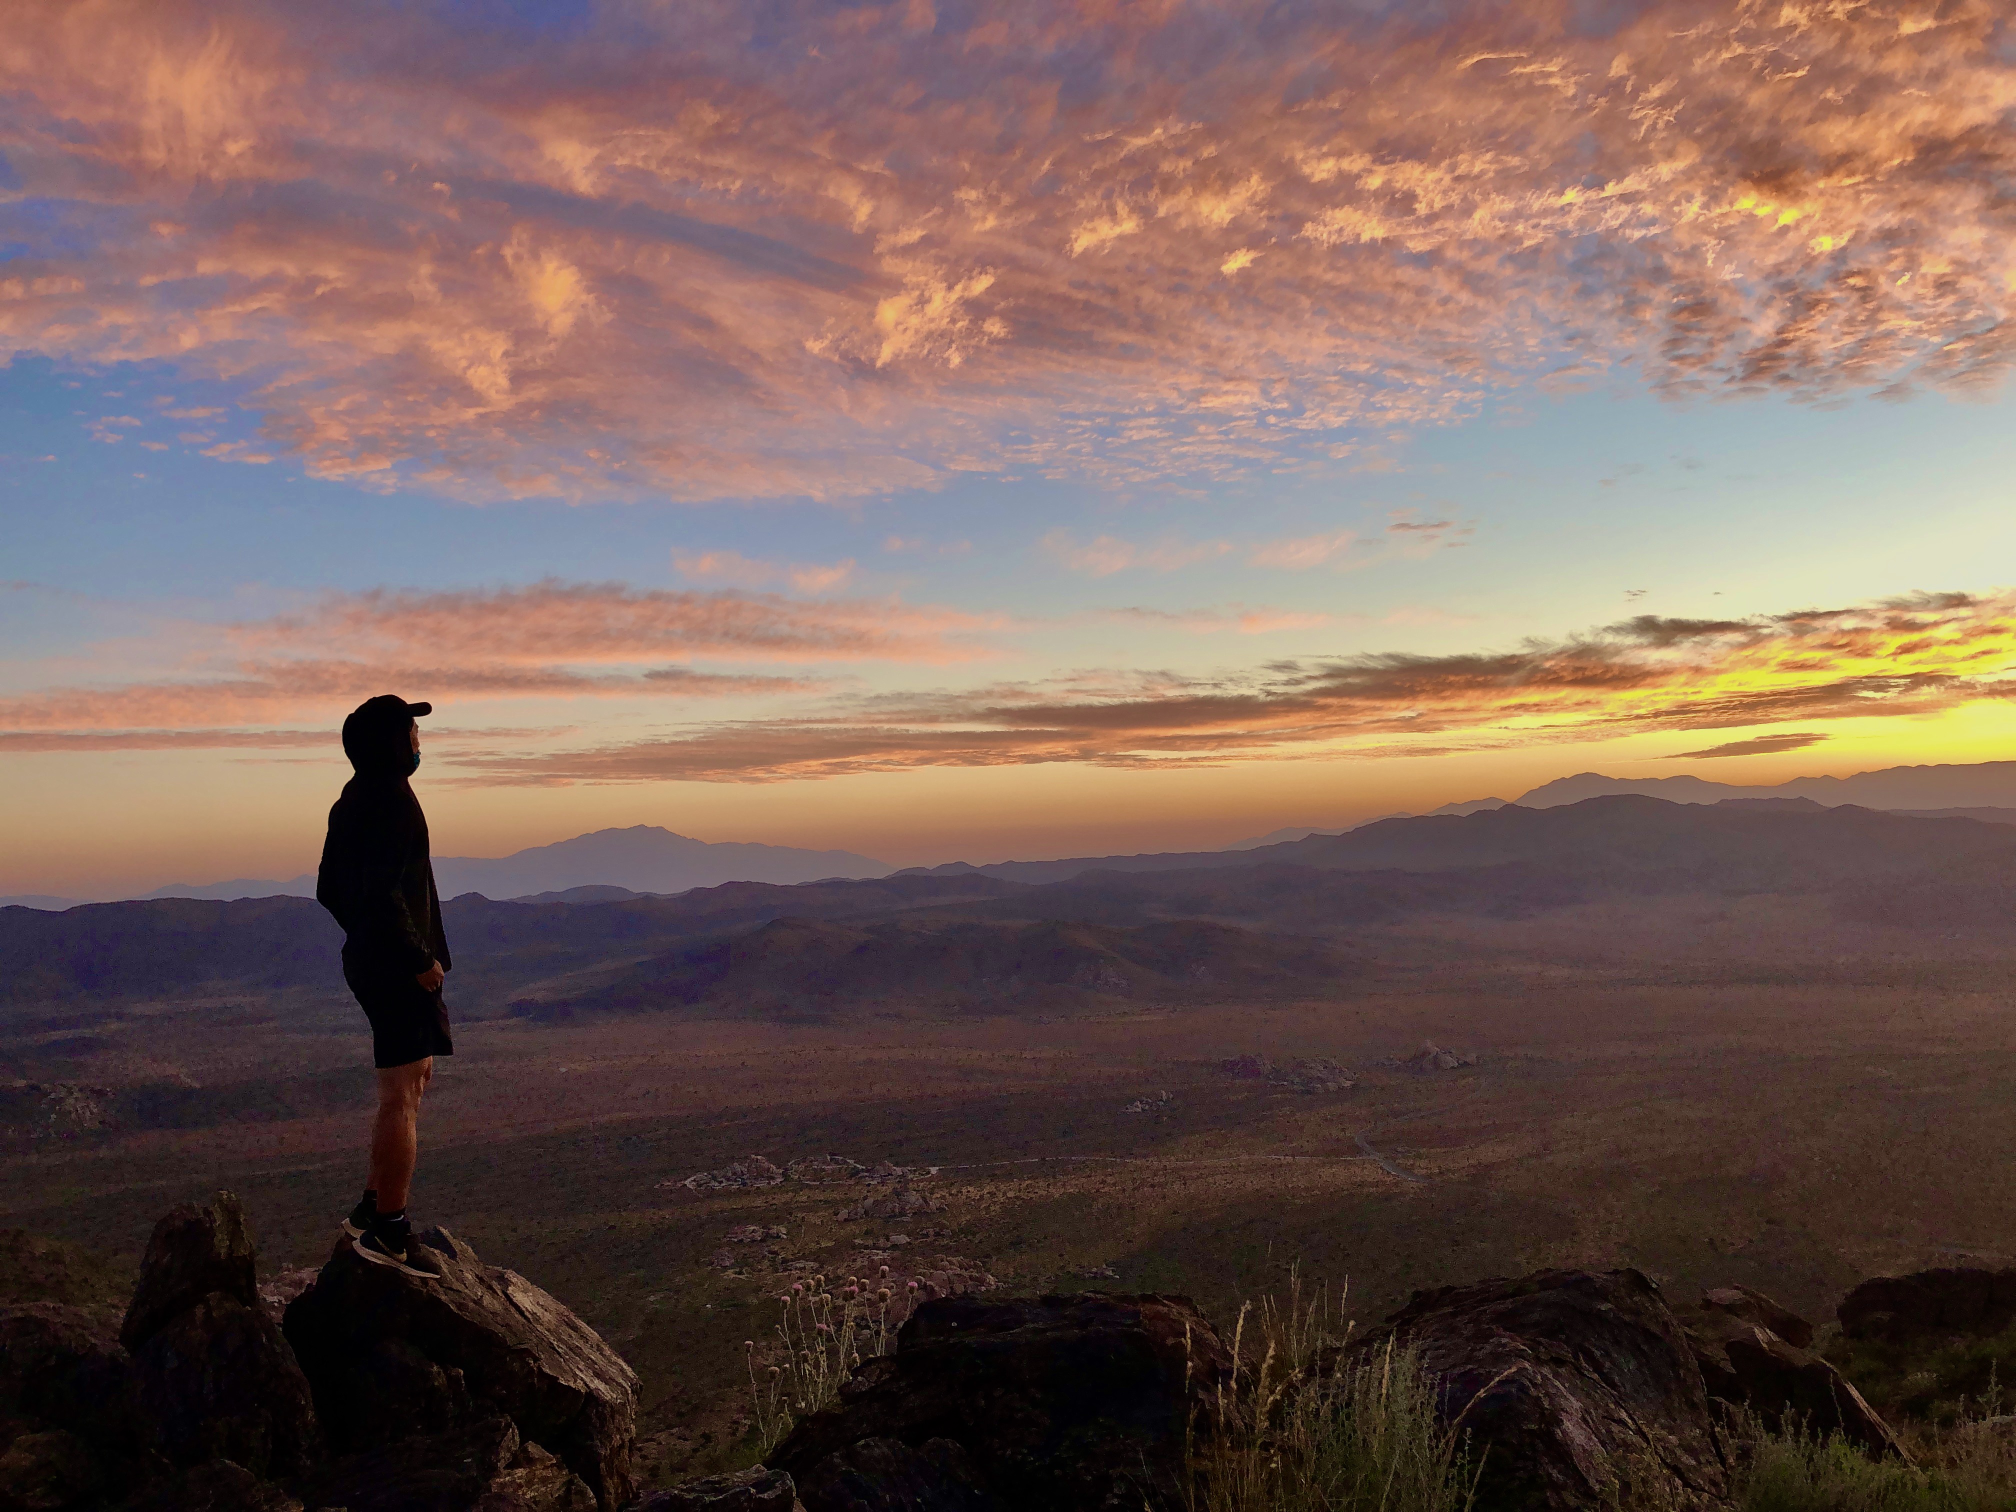
<svg viewBox="0 0 2016 1512">
<path fill-rule="evenodd" d="M 427 816 L 407 782 L 419 770 L 415 718 L 425 714 L 433 704 L 381 694 L 343 722 L 343 754 L 357 776 L 329 810 L 314 897 L 343 925 L 343 980 L 371 1020 L 377 1064 L 371 1173 L 343 1232 L 371 1264 L 431 1278 L 439 1268 L 413 1244 L 405 1202 L 419 1159 L 419 1095 L 433 1056 L 454 1054 L 456 1044 L 442 1002 L 450 960 Z"/>
</svg>

